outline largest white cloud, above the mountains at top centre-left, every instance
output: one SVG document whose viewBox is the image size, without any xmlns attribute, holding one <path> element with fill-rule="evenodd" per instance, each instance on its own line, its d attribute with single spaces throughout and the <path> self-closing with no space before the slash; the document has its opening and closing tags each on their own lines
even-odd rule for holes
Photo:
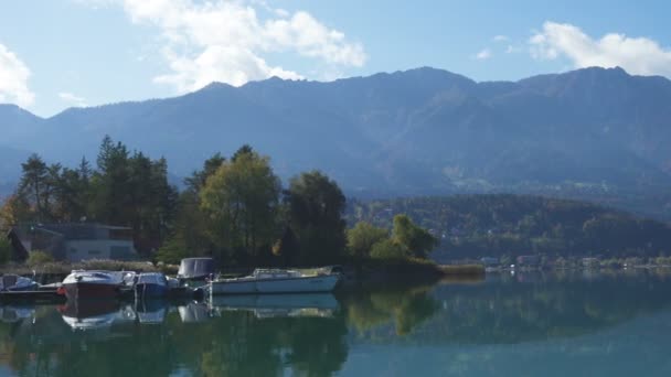
<svg viewBox="0 0 671 377">
<path fill-rule="evenodd" d="M 259 0 L 123 0 L 123 6 L 132 22 L 159 28 L 171 72 L 153 80 L 180 93 L 213 80 L 238 86 L 270 76 L 302 78 L 266 62 L 267 53 L 296 53 L 329 66 L 360 67 L 366 61 L 361 44 L 311 14 L 290 14 Z M 257 8 L 268 18 L 262 20 Z"/>
</svg>

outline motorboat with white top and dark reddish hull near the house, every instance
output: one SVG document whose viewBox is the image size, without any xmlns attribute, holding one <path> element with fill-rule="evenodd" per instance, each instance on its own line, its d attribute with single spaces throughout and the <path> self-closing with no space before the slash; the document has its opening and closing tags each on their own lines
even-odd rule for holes
<svg viewBox="0 0 671 377">
<path fill-rule="evenodd" d="M 111 299 L 132 287 L 135 277 L 132 271 L 74 270 L 65 277 L 60 291 L 68 300 Z"/>
</svg>

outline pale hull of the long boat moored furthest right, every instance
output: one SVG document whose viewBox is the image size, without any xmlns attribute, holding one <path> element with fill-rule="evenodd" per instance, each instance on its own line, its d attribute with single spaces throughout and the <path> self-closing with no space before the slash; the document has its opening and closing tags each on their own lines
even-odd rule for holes
<svg viewBox="0 0 671 377">
<path fill-rule="evenodd" d="M 283 279 L 238 279 L 213 281 L 210 293 L 216 294 L 249 294 L 249 293 L 309 293 L 330 292 L 336 288 L 339 276 L 315 276 Z"/>
</svg>

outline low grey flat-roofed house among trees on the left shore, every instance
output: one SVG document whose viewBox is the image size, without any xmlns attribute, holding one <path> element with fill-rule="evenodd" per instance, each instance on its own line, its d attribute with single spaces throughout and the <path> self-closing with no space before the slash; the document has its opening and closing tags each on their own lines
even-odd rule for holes
<svg viewBox="0 0 671 377">
<path fill-rule="evenodd" d="M 15 227 L 23 247 L 44 250 L 56 260 L 137 259 L 132 229 L 102 224 L 35 224 Z"/>
</svg>

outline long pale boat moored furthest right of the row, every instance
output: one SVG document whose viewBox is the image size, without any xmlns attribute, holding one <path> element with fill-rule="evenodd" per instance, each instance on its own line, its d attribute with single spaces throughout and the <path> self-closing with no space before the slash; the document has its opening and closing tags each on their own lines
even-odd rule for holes
<svg viewBox="0 0 671 377">
<path fill-rule="evenodd" d="M 251 293 L 305 293 L 330 292 L 341 274 L 323 269 L 303 272 L 286 269 L 256 269 L 252 274 L 210 281 L 211 295 Z"/>
</svg>

